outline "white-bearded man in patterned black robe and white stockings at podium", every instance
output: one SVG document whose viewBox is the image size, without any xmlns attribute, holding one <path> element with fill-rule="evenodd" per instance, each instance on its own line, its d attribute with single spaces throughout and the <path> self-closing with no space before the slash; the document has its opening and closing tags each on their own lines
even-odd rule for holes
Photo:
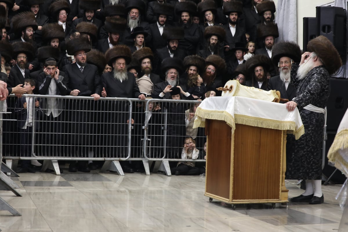
<svg viewBox="0 0 348 232">
<path fill-rule="evenodd" d="M 300 111 L 304 135 L 294 143 L 287 159 L 286 179 L 305 179 L 306 191 L 291 198 L 294 202 L 321 204 L 322 193 L 322 142 L 324 113 L 329 97 L 330 75 L 342 66 L 341 58 L 331 41 L 324 36 L 308 42 L 307 52 L 301 56 L 300 65 L 292 65 L 291 83 L 296 96 L 286 103 L 288 111 Z"/>
</svg>

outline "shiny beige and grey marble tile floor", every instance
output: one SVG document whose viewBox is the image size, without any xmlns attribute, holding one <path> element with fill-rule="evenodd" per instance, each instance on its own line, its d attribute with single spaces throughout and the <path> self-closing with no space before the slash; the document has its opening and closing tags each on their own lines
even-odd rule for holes
<svg viewBox="0 0 348 232">
<path fill-rule="evenodd" d="M 22 216 L 0 211 L 4 232 L 123 231 L 338 231 L 343 208 L 335 200 L 341 185 L 323 185 L 321 205 L 289 203 L 237 207 L 204 196 L 203 176 L 164 174 L 25 173 L 11 177 L 22 197 L 0 191 L 0 197 Z M 303 192 L 287 181 L 289 197 Z"/>
</svg>

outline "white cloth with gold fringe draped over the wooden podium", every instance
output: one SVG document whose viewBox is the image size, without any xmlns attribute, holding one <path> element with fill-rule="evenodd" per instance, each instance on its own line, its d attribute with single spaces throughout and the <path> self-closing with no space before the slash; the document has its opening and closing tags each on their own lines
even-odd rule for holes
<svg viewBox="0 0 348 232">
<path fill-rule="evenodd" d="M 193 127 L 204 127 L 206 119 L 224 120 L 235 129 L 235 123 L 287 130 L 298 139 L 303 133 L 303 123 L 296 108 L 288 112 L 285 104 L 247 97 L 208 97 L 196 110 Z"/>
</svg>

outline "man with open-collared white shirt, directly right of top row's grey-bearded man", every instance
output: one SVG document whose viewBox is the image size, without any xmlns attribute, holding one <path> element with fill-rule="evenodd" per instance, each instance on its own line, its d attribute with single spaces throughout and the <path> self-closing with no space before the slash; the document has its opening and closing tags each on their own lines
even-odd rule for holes
<svg viewBox="0 0 348 232">
<path fill-rule="evenodd" d="M 152 51 L 163 48 L 167 45 L 166 39 L 163 38 L 164 28 L 170 27 L 169 16 L 173 15 L 174 7 L 168 3 L 155 4 L 153 13 L 156 14 L 157 21 L 149 25 L 152 35 L 150 48 Z"/>
</svg>

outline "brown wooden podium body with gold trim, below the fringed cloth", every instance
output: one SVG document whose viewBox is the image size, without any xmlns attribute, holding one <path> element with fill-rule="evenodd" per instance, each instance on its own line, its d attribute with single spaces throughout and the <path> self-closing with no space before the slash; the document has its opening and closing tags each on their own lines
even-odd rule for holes
<svg viewBox="0 0 348 232">
<path fill-rule="evenodd" d="M 230 204 L 288 202 L 286 131 L 206 119 L 205 196 Z"/>
</svg>

